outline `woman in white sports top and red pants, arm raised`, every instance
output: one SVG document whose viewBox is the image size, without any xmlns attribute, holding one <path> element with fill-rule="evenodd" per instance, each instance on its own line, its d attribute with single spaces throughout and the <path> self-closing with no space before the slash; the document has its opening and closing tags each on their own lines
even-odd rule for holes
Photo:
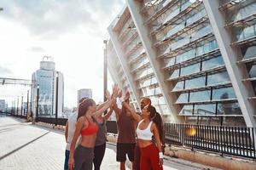
<svg viewBox="0 0 256 170">
<path fill-rule="evenodd" d="M 137 115 L 131 105 L 125 102 L 123 102 L 123 105 L 131 111 L 131 115 L 138 122 L 137 143 L 141 151 L 140 169 L 148 170 L 152 167 L 153 170 L 162 170 L 163 152 L 157 127 L 158 124 L 151 120 L 156 114 L 154 106 L 146 105 L 142 110 L 142 114 Z M 152 141 L 153 135 L 157 146 Z"/>
</svg>

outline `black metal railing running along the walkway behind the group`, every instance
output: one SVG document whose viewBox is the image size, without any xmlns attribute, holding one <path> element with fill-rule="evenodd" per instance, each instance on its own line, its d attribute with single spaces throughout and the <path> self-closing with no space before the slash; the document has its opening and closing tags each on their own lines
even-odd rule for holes
<svg viewBox="0 0 256 170">
<path fill-rule="evenodd" d="M 36 122 L 65 126 L 66 118 L 37 117 Z M 115 121 L 107 122 L 108 133 L 117 134 Z M 165 123 L 166 144 L 191 150 L 209 150 L 221 156 L 233 155 L 256 159 L 256 127 L 225 127 Z"/>
</svg>

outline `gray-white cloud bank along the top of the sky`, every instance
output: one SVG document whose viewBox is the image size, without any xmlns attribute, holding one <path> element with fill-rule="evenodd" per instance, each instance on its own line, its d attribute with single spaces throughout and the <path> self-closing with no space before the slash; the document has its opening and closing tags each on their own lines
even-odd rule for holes
<svg viewBox="0 0 256 170">
<path fill-rule="evenodd" d="M 1 15 L 26 26 L 33 36 L 46 39 L 78 29 L 102 36 L 106 31 L 102 24 L 123 4 L 119 0 L 3 0 Z"/>
</svg>

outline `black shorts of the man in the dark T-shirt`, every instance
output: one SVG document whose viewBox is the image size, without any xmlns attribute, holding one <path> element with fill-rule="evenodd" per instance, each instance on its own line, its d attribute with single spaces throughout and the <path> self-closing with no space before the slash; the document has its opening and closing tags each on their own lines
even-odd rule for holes
<svg viewBox="0 0 256 170">
<path fill-rule="evenodd" d="M 116 144 L 116 161 L 126 161 L 126 154 L 130 161 L 134 161 L 135 144 Z"/>
</svg>

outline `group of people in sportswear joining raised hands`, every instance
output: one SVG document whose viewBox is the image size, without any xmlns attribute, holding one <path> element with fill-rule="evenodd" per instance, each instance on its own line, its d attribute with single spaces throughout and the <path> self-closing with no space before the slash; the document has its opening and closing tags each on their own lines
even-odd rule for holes
<svg viewBox="0 0 256 170">
<path fill-rule="evenodd" d="M 112 95 L 106 92 L 106 98 L 102 105 L 96 105 L 93 99 L 81 99 L 78 113 L 68 118 L 64 169 L 92 170 L 93 165 L 95 170 L 100 169 L 106 150 L 106 122 L 113 111 L 118 127 L 116 161 L 120 162 L 120 170 L 125 170 L 126 156 L 131 169 L 163 169 L 163 124 L 150 99 L 142 99 L 139 114 L 129 103 L 130 93 L 127 91 L 122 99 L 117 85 L 113 86 Z"/>
</svg>

